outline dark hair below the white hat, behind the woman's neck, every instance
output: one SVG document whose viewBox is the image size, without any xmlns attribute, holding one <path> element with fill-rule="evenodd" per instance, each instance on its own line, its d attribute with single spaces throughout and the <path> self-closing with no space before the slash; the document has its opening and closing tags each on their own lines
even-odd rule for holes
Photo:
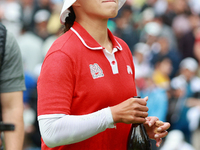
<svg viewBox="0 0 200 150">
<path fill-rule="evenodd" d="M 76 15 L 74 13 L 72 6 L 69 8 L 69 10 L 70 10 L 69 16 L 65 18 L 64 33 L 67 32 L 73 26 L 74 21 L 76 19 Z"/>
</svg>

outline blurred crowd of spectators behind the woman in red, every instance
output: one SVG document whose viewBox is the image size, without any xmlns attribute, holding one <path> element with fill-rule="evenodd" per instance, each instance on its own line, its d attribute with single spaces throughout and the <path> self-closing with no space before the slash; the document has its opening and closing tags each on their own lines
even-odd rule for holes
<svg viewBox="0 0 200 150">
<path fill-rule="evenodd" d="M 16 37 L 24 64 L 24 150 L 40 150 L 36 84 L 46 52 L 63 33 L 62 4 L 0 1 L 0 21 Z M 149 96 L 149 115 L 171 123 L 161 150 L 200 150 L 199 8 L 199 0 L 127 0 L 108 22 L 130 47 L 138 95 Z"/>
</svg>

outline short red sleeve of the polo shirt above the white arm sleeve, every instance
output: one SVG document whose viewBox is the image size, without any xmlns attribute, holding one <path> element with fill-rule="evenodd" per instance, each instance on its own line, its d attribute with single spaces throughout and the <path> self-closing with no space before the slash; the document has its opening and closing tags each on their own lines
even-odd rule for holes
<svg viewBox="0 0 200 150">
<path fill-rule="evenodd" d="M 58 50 L 48 54 L 38 79 L 38 115 L 70 114 L 74 89 L 73 62 Z"/>
</svg>

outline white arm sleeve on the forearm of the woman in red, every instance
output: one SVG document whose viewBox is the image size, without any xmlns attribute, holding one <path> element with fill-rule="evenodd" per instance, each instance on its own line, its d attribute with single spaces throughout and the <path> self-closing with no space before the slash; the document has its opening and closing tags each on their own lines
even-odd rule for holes
<svg viewBox="0 0 200 150">
<path fill-rule="evenodd" d="M 40 133 L 48 147 L 88 139 L 107 128 L 114 128 L 110 108 L 87 115 L 48 114 L 38 116 Z"/>
</svg>

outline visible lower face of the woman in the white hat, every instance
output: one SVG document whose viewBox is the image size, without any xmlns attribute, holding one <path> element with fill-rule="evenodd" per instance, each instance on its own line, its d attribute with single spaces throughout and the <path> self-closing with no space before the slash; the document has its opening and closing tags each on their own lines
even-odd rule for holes
<svg viewBox="0 0 200 150">
<path fill-rule="evenodd" d="M 82 14 L 92 18 L 108 19 L 116 17 L 119 0 L 77 0 Z"/>
</svg>

